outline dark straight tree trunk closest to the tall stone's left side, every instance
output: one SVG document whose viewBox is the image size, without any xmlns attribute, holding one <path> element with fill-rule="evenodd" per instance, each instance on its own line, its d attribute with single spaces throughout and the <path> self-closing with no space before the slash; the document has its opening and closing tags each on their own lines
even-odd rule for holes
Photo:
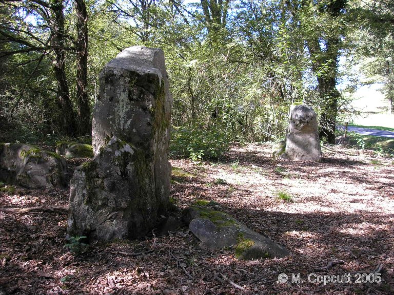
<svg viewBox="0 0 394 295">
<path fill-rule="evenodd" d="M 84 0 L 75 0 L 76 12 L 76 101 L 78 115 L 78 135 L 91 132 L 90 107 L 87 92 L 88 63 L 88 13 Z"/>
</svg>

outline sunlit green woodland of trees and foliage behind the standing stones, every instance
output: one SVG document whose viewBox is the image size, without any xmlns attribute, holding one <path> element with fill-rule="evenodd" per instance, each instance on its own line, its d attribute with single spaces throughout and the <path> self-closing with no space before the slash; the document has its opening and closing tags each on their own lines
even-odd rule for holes
<svg viewBox="0 0 394 295">
<path fill-rule="evenodd" d="M 392 112 L 388 0 L 4 0 L 0 14 L 4 140 L 89 134 L 97 76 L 132 45 L 165 52 L 175 144 L 182 130 L 201 140 L 281 139 L 290 105 L 301 102 L 334 142 L 345 57 L 384 83 Z"/>
</svg>

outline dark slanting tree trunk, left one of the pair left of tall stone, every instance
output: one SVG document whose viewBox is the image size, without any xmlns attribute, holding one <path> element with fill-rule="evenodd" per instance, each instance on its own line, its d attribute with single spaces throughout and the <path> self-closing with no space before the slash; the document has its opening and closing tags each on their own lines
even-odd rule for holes
<svg viewBox="0 0 394 295">
<path fill-rule="evenodd" d="M 65 71 L 63 1 L 54 0 L 51 8 L 54 14 L 54 33 L 51 39 L 51 46 L 55 55 L 54 72 L 57 81 L 57 103 L 63 116 L 61 128 L 65 135 L 73 136 L 76 134 L 76 121 Z"/>
</svg>

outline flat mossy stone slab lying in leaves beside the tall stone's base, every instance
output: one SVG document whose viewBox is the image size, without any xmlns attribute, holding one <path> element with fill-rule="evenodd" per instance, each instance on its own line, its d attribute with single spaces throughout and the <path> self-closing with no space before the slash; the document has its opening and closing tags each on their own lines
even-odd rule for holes
<svg viewBox="0 0 394 295">
<path fill-rule="evenodd" d="M 230 215 L 207 206 L 190 206 L 182 216 L 192 233 L 209 250 L 231 247 L 238 259 L 283 258 L 289 251 L 249 229 Z"/>
</svg>

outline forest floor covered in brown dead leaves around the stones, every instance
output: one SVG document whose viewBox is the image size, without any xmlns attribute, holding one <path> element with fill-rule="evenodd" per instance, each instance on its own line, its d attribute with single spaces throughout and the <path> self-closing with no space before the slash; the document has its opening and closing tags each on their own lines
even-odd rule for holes
<svg viewBox="0 0 394 295">
<path fill-rule="evenodd" d="M 273 162 L 269 144 L 233 146 L 225 161 L 171 161 L 197 175 L 173 177 L 174 214 L 195 200 L 214 201 L 285 245 L 292 256 L 284 259 L 205 251 L 186 227 L 74 254 L 64 247 L 66 209 L 58 208 L 68 205 L 67 189 L 0 193 L 0 294 L 393 294 L 394 159 L 323 150 L 321 163 Z M 350 272 L 366 275 L 308 281 Z M 281 273 L 288 282 L 278 281 Z M 301 281 L 291 283 L 292 273 Z"/>
</svg>

